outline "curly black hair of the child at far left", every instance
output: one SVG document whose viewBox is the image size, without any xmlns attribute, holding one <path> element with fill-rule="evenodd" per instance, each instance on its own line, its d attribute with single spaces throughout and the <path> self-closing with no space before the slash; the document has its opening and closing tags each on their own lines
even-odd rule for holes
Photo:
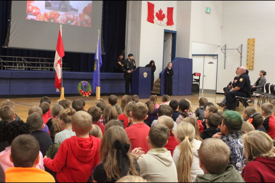
<svg viewBox="0 0 275 183">
<path fill-rule="evenodd" d="M 11 144 L 15 137 L 22 134 L 30 134 L 30 124 L 24 123 L 22 120 L 14 120 L 7 123 L 3 133 L 4 139 L 7 143 Z"/>
</svg>

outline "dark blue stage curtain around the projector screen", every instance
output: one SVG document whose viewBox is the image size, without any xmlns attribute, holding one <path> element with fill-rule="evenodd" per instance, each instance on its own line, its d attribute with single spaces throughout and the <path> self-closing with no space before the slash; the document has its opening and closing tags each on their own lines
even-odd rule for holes
<svg viewBox="0 0 275 183">
<path fill-rule="evenodd" d="M 119 51 L 125 49 L 126 3 L 127 1 L 103 1 L 102 38 L 106 55 L 102 55 L 101 72 L 113 72 L 115 58 Z M 10 11 L 11 1 L 0 1 L 0 55 L 54 58 L 55 51 L 2 48 L 7 35 Z M 67 63 L 66 67 L 70 67 L 71 71 L 93 72 L 94 57 L 95 54 L 65 52 L 63 62 Z"/>
</svg>

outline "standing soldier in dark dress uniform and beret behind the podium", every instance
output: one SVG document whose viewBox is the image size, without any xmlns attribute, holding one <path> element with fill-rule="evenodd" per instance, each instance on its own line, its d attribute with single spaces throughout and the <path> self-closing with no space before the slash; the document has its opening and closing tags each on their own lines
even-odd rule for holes
<svg viewBox="0 0 275 183">
<path fill-rule="evenodd" d="M 121 66 L 121 70 L 124 72 L 123 77 L 125 78 L 125 93 L 129 95 L 129 85 L 132 91 L 132 71 L 137 68 L 132 53 L 128 55 L 128 58 L 124 60 L 124 64 Z"/>
</svg>

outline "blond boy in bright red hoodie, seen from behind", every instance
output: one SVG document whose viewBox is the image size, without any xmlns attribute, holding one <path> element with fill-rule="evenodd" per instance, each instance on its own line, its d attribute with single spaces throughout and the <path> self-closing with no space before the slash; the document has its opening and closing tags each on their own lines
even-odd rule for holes
<svg viewBox="0 0 275 183">
<path fill-rule="evenodd" d="M 44 165 L 56 172 L 58 182 L 87 182 L 99 163 L 101 139 L 89 136 L 92 116 L 78 111 L 72 116 L 72 136 L 62 142 L 53 160 L 44 157 Z"/>
</svg>

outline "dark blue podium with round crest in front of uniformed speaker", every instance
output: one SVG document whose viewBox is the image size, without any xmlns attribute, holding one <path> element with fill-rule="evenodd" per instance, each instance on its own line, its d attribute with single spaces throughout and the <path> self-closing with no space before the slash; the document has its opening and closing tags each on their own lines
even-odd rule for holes
<svg viewBox="0 0 275 183">
<path fill-rule="evenodd" d="M 151 72 L 151 67 L 137 67 L 132 72 L 132 95 L 138 95 L 140 99 L 150 98 Z"/>
</svg>

